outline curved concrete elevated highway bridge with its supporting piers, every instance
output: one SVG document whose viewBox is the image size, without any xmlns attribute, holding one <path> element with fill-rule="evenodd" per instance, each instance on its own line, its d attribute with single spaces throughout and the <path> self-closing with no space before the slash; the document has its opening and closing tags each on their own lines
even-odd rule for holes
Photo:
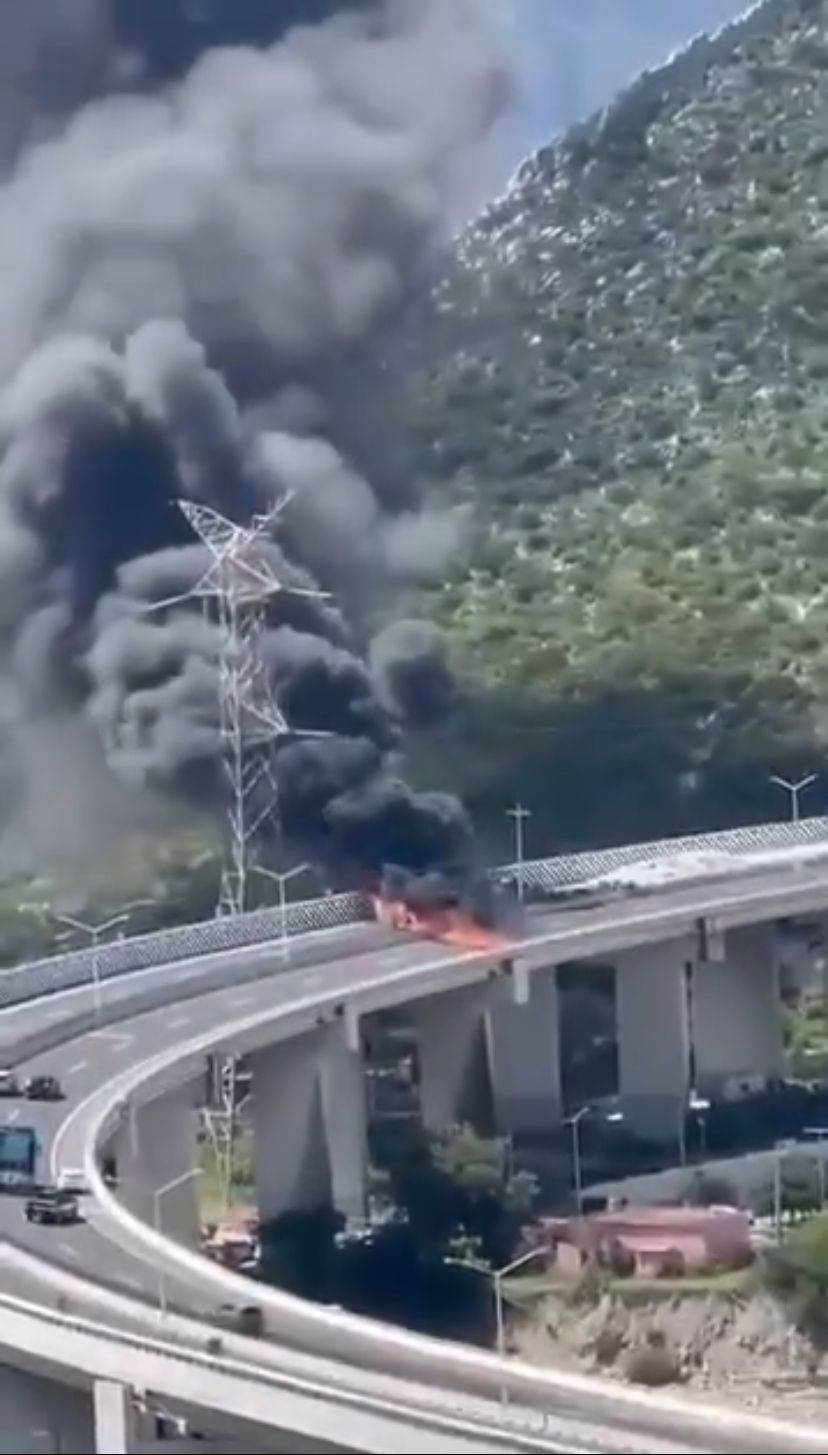
<svg viewBox="0 0 828 1455">
<path fill-rule="evenodd" d="M 642 1133 L 659 1138 L 687 1096 L 691 1035 L 712 1084 L 781 1069 L 776 925 L 827 915 L 828 857 L 760 867 L 745 858 L 726 879 L 537 908 L 508 954 L 351 924 L 298 937 L 287 966 L 263 941 L 135 969 L 103 985 L 99 1011 L 89 985 L 20 1000 L 0 1013 L 3 1056 L 22 1074 L 57 1074 L 67 1097 L 25 1113 L 9 1104 L 7 1116 L 33 1116 L 51 1171 L 84 1167 L 92 1196 L 86 1221 L 61 1229 L 31 1227 L 17 1199 L 0 1199 L 3 1358 L 20 1378 L 63 1388 L 67 1410 L 86 1410 L 86 1436 L 61 1435 L 64 1452 L 71 1439 L 87 1449 L 92 1435 L 99 1451 L 154 1448 L 147 1420 L 159 1411 L 207 1430 L 217 1451 L 239 1440 L 319 1451 L 825 1449 L 825 1430 L 640 1398 L 252 1291 L 198 1251 L 185 1174 L 205 1058 L 246 1055 L 265 1216 L 313 1205 L 320 1192 L 359 1216 L 362 1046 L 371 1018 L 394 1007 L 418 1027 L 429 1125 L 463 1113 L 471 1061 L 483 1055 L 499 1125 L 553 1126 L 562 1116 L 556 970 L 573 962 L 616 966 L 621 1100 Z M 726 1036 L 723 1018 L 733 1020 Z M 102 1176 L 106 1155 L 118 1164 L 116 1189 Z M 217 1305 L 252 1298 L 263 1337 L 218 1333 Z"/>
</svg>

